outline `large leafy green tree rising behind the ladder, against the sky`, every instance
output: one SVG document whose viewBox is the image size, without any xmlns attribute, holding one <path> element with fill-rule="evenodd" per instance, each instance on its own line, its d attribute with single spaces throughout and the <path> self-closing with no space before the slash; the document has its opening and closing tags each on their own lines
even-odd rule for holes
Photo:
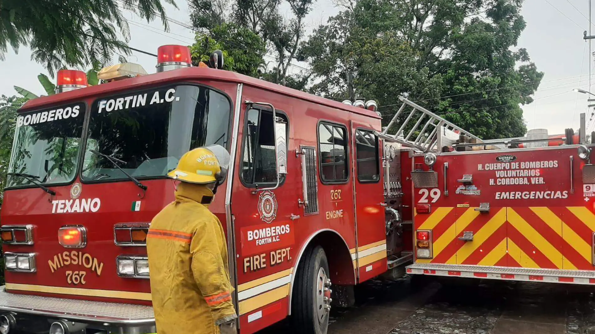
<svg viewBox="0 0 595 334">
<path fill-rule="evenodd" d="M 359 0 L 303 43 L 312 92 L 377 99 L 388 122 L 399 94 L 482 138 L 523 136 L 519 104 L 543 73 L 516 43 L 521 0 Z"/>
</svg>

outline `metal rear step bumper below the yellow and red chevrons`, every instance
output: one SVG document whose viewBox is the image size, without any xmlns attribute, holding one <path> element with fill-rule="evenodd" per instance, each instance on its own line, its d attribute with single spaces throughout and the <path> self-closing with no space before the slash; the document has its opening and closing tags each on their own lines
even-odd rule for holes
<svg viewBox="0 0 595 334">
<path fill-rule="evenodd" d="M 406 267 L 406 270 L 409 274 L 418 275 L 595 285 L 595 270 L 527 269 L 433 263 L 411 264 Z"/>
</svg>

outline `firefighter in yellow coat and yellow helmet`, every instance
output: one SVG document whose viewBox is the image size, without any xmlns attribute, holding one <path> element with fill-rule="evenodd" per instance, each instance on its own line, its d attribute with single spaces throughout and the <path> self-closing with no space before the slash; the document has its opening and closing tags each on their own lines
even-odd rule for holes
<svg viewBox="0 0 595 334">
<path fill-rule="evenodd" d="M 168 173 L 181 181 L 176 200 L 155 216 L 147 236 L 159 334 L 237 333 L 226 238 L 209 211 L 228 164 L 223 147 L 199 147 Z"/>
</svg>

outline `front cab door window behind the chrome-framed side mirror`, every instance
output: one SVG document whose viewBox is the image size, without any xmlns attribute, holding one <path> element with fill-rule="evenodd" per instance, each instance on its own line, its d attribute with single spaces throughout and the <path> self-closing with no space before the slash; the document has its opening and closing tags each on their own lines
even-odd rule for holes
<svg viewBox="0 0 595 334">
<path fill-rule="evenodd" d="M 285 115 L 279 112 L 276 115 L 287 122 Z M 247 187 L 277 182 L 273 126 L 273 112 L 249 109 L 246 114 L 240 176 Z"/>
</svg>

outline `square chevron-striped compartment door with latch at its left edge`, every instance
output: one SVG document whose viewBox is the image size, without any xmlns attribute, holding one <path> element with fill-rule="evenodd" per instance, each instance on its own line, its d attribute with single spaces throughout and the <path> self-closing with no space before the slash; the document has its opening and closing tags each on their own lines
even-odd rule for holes
<svg viewBox="0 0 595 334">
<path fill-rule="evenodd" d="M 456 264 L 505 266 L 506 209 L 490 207 L 484 213 L 475 209 L 463 206 L 455 209 Z"/>
</svg>

